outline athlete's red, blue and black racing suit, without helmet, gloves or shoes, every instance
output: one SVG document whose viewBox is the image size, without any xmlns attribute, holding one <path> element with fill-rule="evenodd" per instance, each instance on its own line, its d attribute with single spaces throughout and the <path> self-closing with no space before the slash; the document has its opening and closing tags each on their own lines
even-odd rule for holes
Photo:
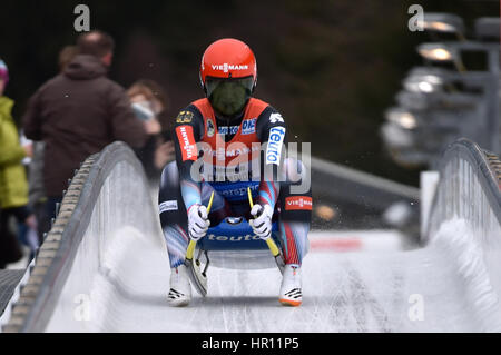
<svg viewBox="0 0 501 355">
<path fill-rule="evenodd" d="M 286 125 L 281 114 L 250 98 L 238 117 L 222 119 L 208 99 L 199 99 L 179 112 L 174 130 L 176 160 L 163 169 L 158 198 L 170 267 L 185 260 L 187 210 L 195 204 L 207 206 L 214 193 L 210 226 L 232 216 L 248 220 L 247 188 L 254 201 L 274 210 L 285 263 L 301 266 L 307 252 L 312 194 L 310 187 L 299 194 L 291 188 L 304 183 L 305 167 L 284 159 Z"/>
</svg>

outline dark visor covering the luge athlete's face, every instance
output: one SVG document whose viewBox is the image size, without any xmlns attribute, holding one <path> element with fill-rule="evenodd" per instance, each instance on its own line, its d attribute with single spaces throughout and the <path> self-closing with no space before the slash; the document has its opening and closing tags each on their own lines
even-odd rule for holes
<svg viewBox="0 0 501 355">
<path fill-rule="evenodd" d="M 207 77 L 205 86 L 207 98 L 213 108 L 224 116 L 242 111 L 253 91 L 254 78 L 213 78 Z"/>
</svg>

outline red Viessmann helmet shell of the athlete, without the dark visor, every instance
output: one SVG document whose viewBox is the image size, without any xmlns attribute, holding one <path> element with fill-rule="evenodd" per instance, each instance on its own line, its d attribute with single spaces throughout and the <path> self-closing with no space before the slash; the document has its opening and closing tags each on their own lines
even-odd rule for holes
<svg viewBox="0 0 501 355">
<path fill-rule="evenodd" d="M 253 77 L 253 89 L 257 82 L 257 65 L 250 48 L 243 41 L 224 38 L 215 41 L 204 52 L 200 65 L 200 81 L 206 78 Z"/>
</svg>

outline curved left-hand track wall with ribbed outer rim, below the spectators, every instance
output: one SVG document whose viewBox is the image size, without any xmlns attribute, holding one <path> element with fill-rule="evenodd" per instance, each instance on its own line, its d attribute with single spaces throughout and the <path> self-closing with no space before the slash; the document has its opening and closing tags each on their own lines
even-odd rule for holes
<svg viewBox="0 0 501 355">
<path fill-rule="evenodd" d="M 100 287 L 101 275 L 109 277 L 134 259 L 131 238 L 146 235 L 139 245 L 165 248 L 157 218 L 143 167 L 127 145 L 115 142 L 89 157 L 63 197 L 3 332 L 99 331 L 85 321 L 105 317 L 105 309 L 87 308 L 92 297 L 112 299 Z"/>
</svg>

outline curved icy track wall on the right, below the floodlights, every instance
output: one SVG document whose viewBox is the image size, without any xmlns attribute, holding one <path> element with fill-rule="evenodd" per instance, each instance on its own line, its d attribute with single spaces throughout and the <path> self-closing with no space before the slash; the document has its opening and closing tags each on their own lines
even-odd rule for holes
<svg viewBox="0 0 501 355">
<path fill-rule="evenodd" d="M 442 158 L 423 243 L 455 262 L 480 331 L 501 332 L 501 161 L 468 139 Z"/>
</svg>

